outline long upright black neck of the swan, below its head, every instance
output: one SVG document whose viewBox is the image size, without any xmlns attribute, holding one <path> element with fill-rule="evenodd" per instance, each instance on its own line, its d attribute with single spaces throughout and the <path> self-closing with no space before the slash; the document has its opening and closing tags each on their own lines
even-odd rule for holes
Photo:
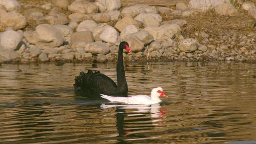
<svg viewBox="0 0 256 144">
<path fill-rule="evenodd" d="M 118 63 L 117 63 L 117 90 L 120 94 L 126 94 L 128 92 L 128 86 L 125 78 L 125 70 L 123 63 L 123 48 L 119 46 L 118 51 Z"/>
</svg>

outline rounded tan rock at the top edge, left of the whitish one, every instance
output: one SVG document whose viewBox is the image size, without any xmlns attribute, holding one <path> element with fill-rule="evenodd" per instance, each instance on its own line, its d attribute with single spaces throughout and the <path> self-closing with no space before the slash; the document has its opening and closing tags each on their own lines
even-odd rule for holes
<svg viewBox="0 0 256 144">
<path fill-rule="evenodd" d="M 68 6 L 68 10 L 73 13 L 92 14 L 98 12 L 98 6 L 87 0 L 77 0 Z"/>
</svg>

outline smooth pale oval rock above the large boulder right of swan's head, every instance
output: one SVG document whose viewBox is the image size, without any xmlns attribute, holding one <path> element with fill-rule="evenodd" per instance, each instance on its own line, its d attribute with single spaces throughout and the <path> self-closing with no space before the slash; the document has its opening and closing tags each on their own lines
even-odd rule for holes
<svg viewBox="0 0 256 144">
<path fill-rule="evenodd" d="M 162 17 L 156 13 L 140 13 L 134 19 L 143 22 L 145 27 L 160 26 L 162 22 Z"/>
</svg>

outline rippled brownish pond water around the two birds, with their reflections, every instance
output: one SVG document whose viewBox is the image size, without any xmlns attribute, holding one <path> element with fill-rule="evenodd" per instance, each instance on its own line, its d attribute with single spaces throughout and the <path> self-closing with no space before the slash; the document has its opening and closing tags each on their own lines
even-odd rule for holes
<svg viewBox="0 0 256 144">
<path fill-rule="evenodd" d="M 151 106 L 76 95 L 74 77 L 116 64 L 0 66 L 1 144 L 256 144 L 255 63 L 126 64 L 128 95 L 162 87 Z"/>
</svg>

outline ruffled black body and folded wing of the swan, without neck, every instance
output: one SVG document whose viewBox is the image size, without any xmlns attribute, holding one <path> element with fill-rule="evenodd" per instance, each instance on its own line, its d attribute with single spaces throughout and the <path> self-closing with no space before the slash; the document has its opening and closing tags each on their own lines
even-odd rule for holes
<svg viewBox="0 0 256 144">
<path fill-rule="evenodd" d="M 74 89 L 95 95 L 113 95 L 117 93 L 117 84 L 100 71 L 88 70 L 87 73 L 80 72 L 80 75 L 75 77 Z"/>
</svg>

